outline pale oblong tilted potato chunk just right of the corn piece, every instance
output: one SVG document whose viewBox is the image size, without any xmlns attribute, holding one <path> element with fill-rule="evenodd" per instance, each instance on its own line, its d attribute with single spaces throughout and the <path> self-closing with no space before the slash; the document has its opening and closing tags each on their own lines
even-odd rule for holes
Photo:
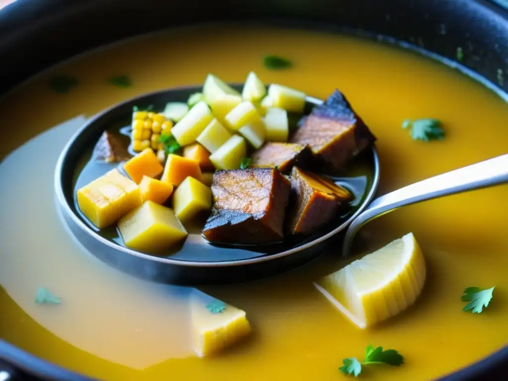
<svg viewBox="0 0 508 381">
<path fill-rule="evenodd" d="M 174 125 L 171 134 L 181 146 L 194 143 L 212 119 L 212 112 L 208 105 L 205 102 L 199 102 Z"/>
</svg>

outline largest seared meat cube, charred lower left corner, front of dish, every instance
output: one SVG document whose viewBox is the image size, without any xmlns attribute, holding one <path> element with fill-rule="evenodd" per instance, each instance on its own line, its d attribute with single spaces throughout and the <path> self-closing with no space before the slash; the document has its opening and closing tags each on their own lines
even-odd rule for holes
<svg viewBox="0 0 508 381">
<path fill-rule="evenodd" d="M 283 237 L 291 182 L 272 168 L 217 171 L 213 210 L 203 228 L 210 242 L 261 244 Z"/>
</svg>

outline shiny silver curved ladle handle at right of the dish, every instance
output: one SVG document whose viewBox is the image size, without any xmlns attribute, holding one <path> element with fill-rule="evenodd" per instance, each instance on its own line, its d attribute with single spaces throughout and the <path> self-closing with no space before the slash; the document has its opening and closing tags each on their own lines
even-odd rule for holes
<svg viewBox="0 0 508 381">
<path fill-rule="evenodd" d="M 504 183 L 508 183 L 508 154 L 443 173 L 380 196 L 347 228 L 342 256 L 349 255 L 353 238 L 358 230 L 380 215 L 401 206 Z"/>
</svg>

